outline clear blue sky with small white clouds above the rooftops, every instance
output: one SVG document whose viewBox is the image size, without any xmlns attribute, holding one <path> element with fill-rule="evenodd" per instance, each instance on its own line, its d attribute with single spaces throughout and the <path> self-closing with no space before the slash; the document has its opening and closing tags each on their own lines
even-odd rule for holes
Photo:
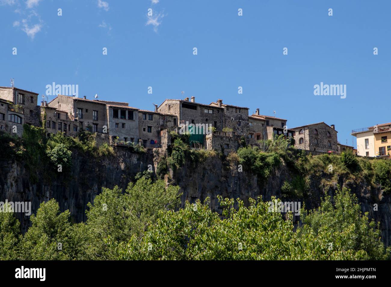
<svg viewBox="0 0 391 287">
<path fill-rule="evenodd" d="M 352 129 L 391 121 L 390 3 L 0 0 L 0 86 L 13 77 L 45 94 L 52 82 L 77 84 L 80 97 L 149 110 L 185 91 L 200 103 L 276 111 L 288 127 L 335 124 L 351 145 Z M 315 96 L 321 82 L 346 85 L 346 98 Z"/>
</svg>

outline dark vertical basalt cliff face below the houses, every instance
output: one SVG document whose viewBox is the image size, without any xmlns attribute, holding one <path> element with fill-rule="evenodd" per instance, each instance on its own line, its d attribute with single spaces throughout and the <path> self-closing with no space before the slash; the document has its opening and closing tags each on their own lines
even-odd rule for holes
<svg viewBox="0 0 391 287">
<path fill-rule="evenodd" d="M 116 156 L 100 159 L 74 153 L 70 172 L 48 178 L 45 176 L 45 168 L 49 167 L 41 167 L 38 181 L 34 182 L 30 180 L 30 173 L 23 162 L 0 159 L 0 201 L 31 201 L 32 213 L 35 214 L 41 202 L 54 198 L 61 211 L 69 209 L 74 222 L 85 221 L 87 203 L 93 202 L 102 187 L 113 188 L 118 185 L 125 189 L 138 172 L 148 169 L 148 165 L 151 164 L 156 170 L 159 159 L 164 156 L 158 149 L 137 154 L 126 147 L 119 147 L 115 152 Z M 240 198 L 246 205 L 249 198 L 259 195 L 262 195 L 263 200 L 270 200 L 271 196 L 281 198 L 281 186 L 285 180 L 290 181 L 292 175 L 289 168 L 282 164 L 273 170 L 267 180 L 260 181 L 256 175 L 246 171 L 238 172 L 237 165 L 230 166 L 219 157 L 211 156 L 195 166 L 187 162 L 181 169 L 170 170 L 170 176 L 166 178 L 167 184 L 181 187 L 182 207 L 187 200 L 194 202 L 199 199 L 203 202 L 209 197 L 212 210 L 221 212 L 217 195 L 223 198 Z M 332 182 L 325 177 L 312 177 L 310 193 L 305 199 L 306 208 L 318 207 L 325 193 L 333 196 L 337 185 L 348 187 L 357 195 L 362 211 L 369 212 L 369 217 L 380 221 L 382 240 L 387 246 L 391 245 L 391 196 L 383 195 L 380 187 L 369 187 L 364 180 L 352 182 L 341 177 L 338 182 Z M 302 200 L 289 198 L 285 201 Z M 377 211 L 374 210 L 374 204 L 377 204 Z M 22 213 L 16 213 L 16 216 L 25 232 L 30 225 L 29 216 Z M 295 217 L 294 220 L 297 219 Z"/>
</svg>

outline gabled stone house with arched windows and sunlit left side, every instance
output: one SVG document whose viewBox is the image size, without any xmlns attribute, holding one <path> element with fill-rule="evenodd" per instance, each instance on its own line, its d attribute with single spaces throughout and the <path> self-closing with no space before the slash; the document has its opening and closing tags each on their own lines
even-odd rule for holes
<svg viewBox="0 0 391 287">
<path fill-rule="evenodd" d="M 334 125 L 329 126 L 322 121 L 295 127 L 293 130 L 295 130 L 295 148 L 320 152 L 338 152 L 337 131 Z"/>
</svg>

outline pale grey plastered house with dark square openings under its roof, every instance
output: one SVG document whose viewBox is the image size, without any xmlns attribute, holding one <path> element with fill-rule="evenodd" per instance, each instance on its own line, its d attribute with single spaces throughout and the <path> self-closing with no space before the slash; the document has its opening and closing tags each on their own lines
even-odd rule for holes
<svg viewBox="0 0 391 287">
<path fill-rule="evenodd" d="M 126 103 L 127 104 L 127 103 Z M 138 109 L 122 104 L 106 103 L 107 132 L 113 142 L 138 142 Z"/>
</svg>

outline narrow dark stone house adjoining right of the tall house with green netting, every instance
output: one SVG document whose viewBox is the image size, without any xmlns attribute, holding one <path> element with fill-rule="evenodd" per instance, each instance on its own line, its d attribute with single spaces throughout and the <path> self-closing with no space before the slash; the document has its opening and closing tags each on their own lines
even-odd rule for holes
<svg viewBox="0 0 391 287">
<path fill-rule="evenodd" d="M 248 108 L 226 105 L 222 103 L 221 99 L 218 99 L 217 102 L 210 103 L 210 106 L 224 109 L 223 125 L 224 127 L 231 128 L 233 135 L 248 135 Z"/>
</svg>

